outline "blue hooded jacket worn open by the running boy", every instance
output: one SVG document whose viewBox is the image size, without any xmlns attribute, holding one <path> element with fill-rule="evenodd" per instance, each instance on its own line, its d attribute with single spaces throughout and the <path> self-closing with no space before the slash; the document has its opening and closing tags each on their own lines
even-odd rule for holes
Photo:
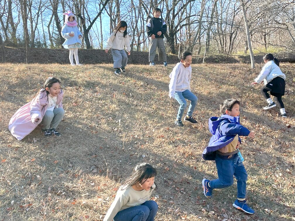
<svg viewBox="0 0 295 221">
<path fill-rule="evenodd" d="M 203 151 L 204 160 L 215 160 L 217 150 L 230 144 L 235 136 L 248 136 L 250 131 L 240 125 L 240 117 L 232 117 L 227 114 L 209 119 L 209 130 L 212 133 L 209 144 Z M 241 139 L 239 137 L 239 141 Z"/>
</svg>

